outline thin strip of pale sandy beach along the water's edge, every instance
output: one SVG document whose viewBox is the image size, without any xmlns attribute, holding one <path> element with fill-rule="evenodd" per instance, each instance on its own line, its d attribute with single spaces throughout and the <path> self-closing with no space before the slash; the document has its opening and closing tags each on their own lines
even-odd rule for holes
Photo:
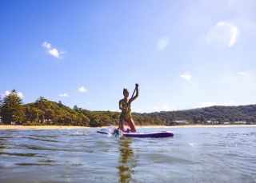
<svg viewBox="0 0 256 183">
<path fill-rule="evenodd" d="M 109 126 L 102 127 L 86 127 L 74 125 L 0 125 L 1 129 L 102 129 Z M 137 125 L 138 129 L 143 128 L 162 128 L 162 129 L 176 129 L 176 128 L 213 128 L 213 127 L 256 127 L 256 125 Z"/>
</svg>

